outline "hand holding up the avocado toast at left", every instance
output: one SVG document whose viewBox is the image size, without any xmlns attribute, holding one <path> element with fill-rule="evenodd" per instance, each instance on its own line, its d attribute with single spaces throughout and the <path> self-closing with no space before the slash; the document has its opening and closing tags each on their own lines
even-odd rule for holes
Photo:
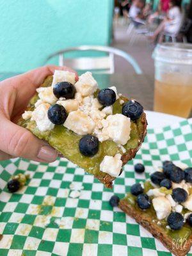
<svg viewBox="0 0 192 256">
<path fill-rule="evenodd" d="M 55 69 L 76 73 L 67 67 L 46 66 L 0 82 L 0 161 L 13 157 L 47 163 L 56 160 L 57 152 L 54 148 L 15 124 L 35 94 L 36 88 Z"/>
</svg>

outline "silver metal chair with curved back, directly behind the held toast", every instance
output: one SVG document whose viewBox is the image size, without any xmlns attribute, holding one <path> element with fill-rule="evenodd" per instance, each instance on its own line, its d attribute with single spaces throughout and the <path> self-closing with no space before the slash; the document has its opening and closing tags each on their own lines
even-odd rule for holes
<svg viewBox="0 0 192 256">
<path fill-rule="evenodd" d="M 106 52 L 108 56 L 102 57 L 81 57 L 81 58 L 64 58 L 64 54 L 67 52 L 73 51 L 97 51 L 97 52 Z M 115 72 L 114 67 L 114 55 L 121 56 L 124 60 L 128 61 L 136 74 L 142 74 L 142 70 L 136 60 L 132 58 L 127 52 L 121 51 L 119 49 L 108 47 L 108 46 L 100 46 L 100 45 L 81 45 L 77 47 L 70 47 L 63 49 L 58 52 L 54 52 L 51 54 L 47 61 L 51 60 L 51 58 L 58 56 L 59 57 L 59 65 L 68 65 L 76 70 L 91 70 L 93 73 L 102 73 L 102 74 L 113 74 Z"/>
</svg>

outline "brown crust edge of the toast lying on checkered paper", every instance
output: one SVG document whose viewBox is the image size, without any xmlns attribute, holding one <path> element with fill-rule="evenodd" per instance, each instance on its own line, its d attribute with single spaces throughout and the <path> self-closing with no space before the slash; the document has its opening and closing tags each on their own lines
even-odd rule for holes
<svg viewBox="0 0 192 256">
<path fill-rule="evenodd" d="M 192 235 L 189 237 L 186 243 L 184 243 L 184 245 L 178 246 L 179 248 L 176 248 L 177 246 L 173 246 L 174 244 L 172 237 L 164 233 L 159 225 L 157 225 L 156 222 L 153 222 L 149 216 L 139 214 L 139 212 L 137 212 L 134 207 L 132 207 L 132 205 L 130 205 L 124 199 L 120 200 L 118 207 L 122 209 L 122 211 L 124 211 L 127 215 L 134 218 L 136 222 L 146 228 L 154 237 L 159 239 L 159 241 L 161 241 L 161 243 L 163 243 L 163 245 L 168 248 L 168 250 L 170 250 L 170 252 L 172 252 L 174 255 L 184 256 L 189 252 L 192 245 Z"/>
</svg>

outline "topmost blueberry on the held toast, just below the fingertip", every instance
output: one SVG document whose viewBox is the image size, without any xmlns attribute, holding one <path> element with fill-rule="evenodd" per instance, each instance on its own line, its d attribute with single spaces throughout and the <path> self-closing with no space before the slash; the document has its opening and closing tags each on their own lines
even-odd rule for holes
<svg viewBox="0 0 192 256">
<path fill-rule="evenodd" d="M 72 99 L 74 98 L 75 92 L 75 86 L 68 82 L 56 83 L 53 87 L 53 93 L 58 99 L 60 97 L 65 97 L 65 99 Z"/>
</svg>

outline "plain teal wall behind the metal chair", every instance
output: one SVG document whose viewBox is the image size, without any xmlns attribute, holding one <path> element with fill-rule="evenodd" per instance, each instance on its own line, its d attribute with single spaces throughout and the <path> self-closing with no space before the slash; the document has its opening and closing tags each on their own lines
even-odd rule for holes
<svg viewBox="0 0 192 256">
<path fill-rule="evenodd" d="M 113 0 L 0 0 L 0 72 L 24 72 L 54 51 L 108 45 Z"/>
</svg>

